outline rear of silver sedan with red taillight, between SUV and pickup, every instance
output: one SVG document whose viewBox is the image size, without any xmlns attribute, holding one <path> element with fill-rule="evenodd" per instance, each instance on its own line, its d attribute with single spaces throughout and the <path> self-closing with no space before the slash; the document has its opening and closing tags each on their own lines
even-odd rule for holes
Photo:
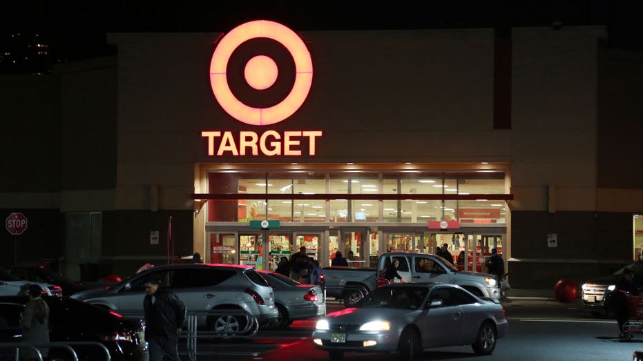
<svg viewBox="0 0 643 361">
<path fill-rule="evenodd" d="M 258 271 L 272 286 L 279 317 L 271 322 L 276 329 L 286 329 L 294 320 L 326 314 L 326 300 L 320 286 L 300 284 L 279 273 Z"/>
</svg>

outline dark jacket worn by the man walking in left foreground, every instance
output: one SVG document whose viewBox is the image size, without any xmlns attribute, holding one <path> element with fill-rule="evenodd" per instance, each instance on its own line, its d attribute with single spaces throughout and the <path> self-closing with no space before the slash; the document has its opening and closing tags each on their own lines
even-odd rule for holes
<svg viewBox="0 0 643 361">
<path fill-rule="evenodd" d="M 151 295 L 145 295 L 143 299 L 146 335 L 176 337 L 177 329 L 183 326 L 185 320 L 185 305 L 177 295 L 161 287 L 153 296 L 156 297 L 154 304 Z"/>
</svg>

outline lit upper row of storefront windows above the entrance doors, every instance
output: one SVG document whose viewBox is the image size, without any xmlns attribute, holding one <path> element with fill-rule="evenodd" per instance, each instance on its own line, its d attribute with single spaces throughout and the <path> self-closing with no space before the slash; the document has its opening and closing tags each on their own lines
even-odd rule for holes
<svg viewBox="0 0 643 361">
<path fill-rule="evenodd" d="M 486 199 L 414 199 L 419 195 L 504 194 L 505 175 L 489 173 L 209 173 L 209 193 L 280 194 L 282 199 L 209 199 L 209 222 L 394 222 L 459 220 L 463 223 L 506 223 L 506 203 Z M 292 199 L 291 195 L 361 195 L 361 199 Z M 378 199 L 379 194 L 408 199 Z M 372 199 L 362 199 L 372 195 Z M 380 202 L 383 213 L 379 214 Z M 329 211 L 327 212 L 327 207 Z"/>
</svg>

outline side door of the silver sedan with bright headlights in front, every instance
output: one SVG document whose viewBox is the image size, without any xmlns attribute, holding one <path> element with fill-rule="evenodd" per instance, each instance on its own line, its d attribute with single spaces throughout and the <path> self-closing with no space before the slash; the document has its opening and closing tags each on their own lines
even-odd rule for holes
<svg viewBox="0 0 643 361">
<path fill-rule="evenodd" d="M 441 306 L 430 306 L 433 300 L 442 300 Z M 463 329 L 463 313 L 452 293 L 452 286 L 436 286 L 427 300 L 428 309 L 421 322 L 424 347 L 442 347 L 460 344 Z"/>
</svg>

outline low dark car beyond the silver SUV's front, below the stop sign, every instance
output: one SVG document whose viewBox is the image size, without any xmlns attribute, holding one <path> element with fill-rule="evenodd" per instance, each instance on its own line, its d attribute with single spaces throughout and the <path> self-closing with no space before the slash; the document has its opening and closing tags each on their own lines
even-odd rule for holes
<svg viewBox="0 0 643 361">
<path fill-rule="evenodd" d="M 77 282 L 70 280 L 60 273 L 38 266 L 8 266 L 5 267 L 5 269 L 20 280 L 50 283 L 60 286 L 63 291 L 62 294 L 66 297 L 88 289 L 115 285 L 115 283 L 109 282 Z"/>
</svg>

